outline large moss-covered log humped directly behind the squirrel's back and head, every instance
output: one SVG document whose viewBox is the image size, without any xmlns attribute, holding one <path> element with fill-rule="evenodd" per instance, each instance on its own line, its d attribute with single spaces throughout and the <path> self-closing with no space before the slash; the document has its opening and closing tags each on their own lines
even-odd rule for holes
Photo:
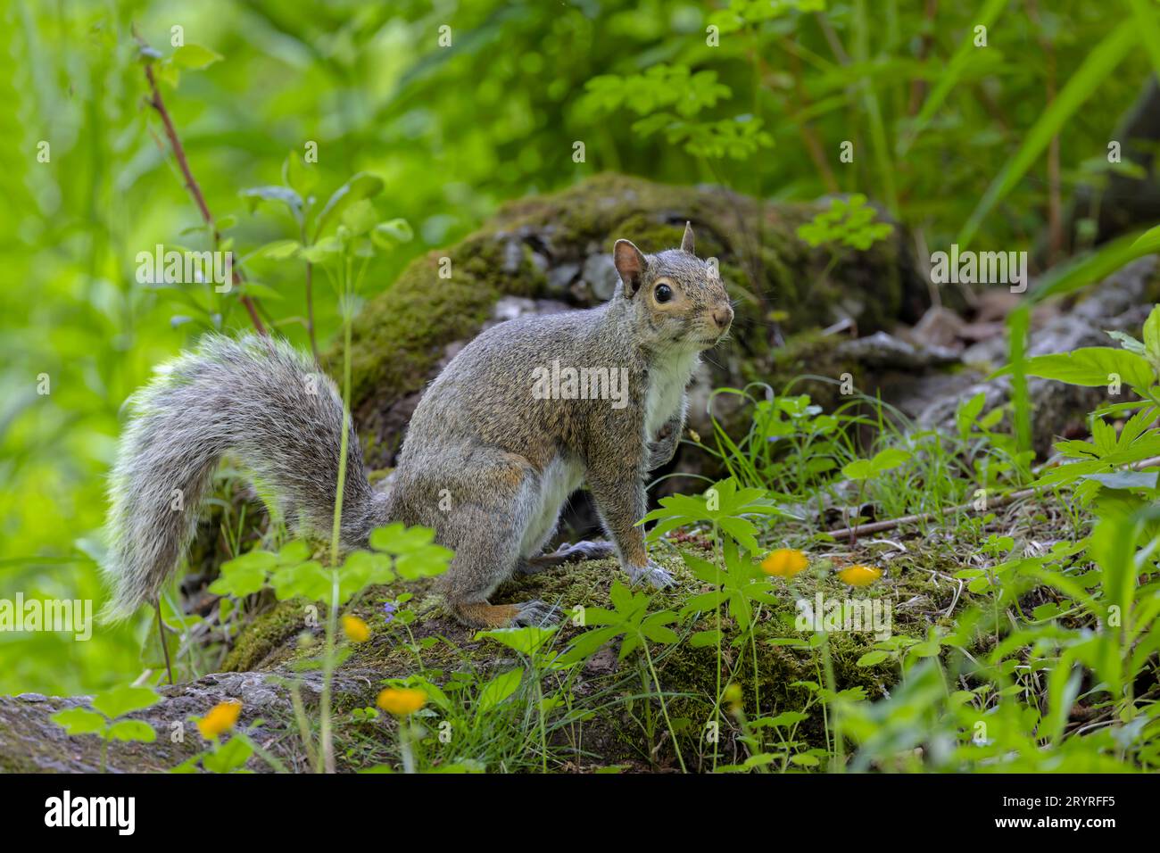
<svg viewBox="0 0 1160 853">
<path fill-rule="evenodd" d="M 841 320 L 861 333 L 918 320 L 929 291 L 901 229 L 868 251 L 811 248 L 796 230 L 827 207 L 615 174 L 509 203 L 476 233 L 413 261 L 355 320 L 351 409 L 370 463 L 392 464 L 423 388 L 485 325 L 606 301 L 622 237 L 657 252 L 680 245 L 691 222 L 697 253 L 718 260 L 737 319 L 732 340 L 708 354 L 702 404 L 711 386 L 784 373 L 776 355 L 786 335 Z M 331 352 L 331 364 L 338 355 Z M 690 413 L 701 432 L 704 411 Z"/>
</svg>

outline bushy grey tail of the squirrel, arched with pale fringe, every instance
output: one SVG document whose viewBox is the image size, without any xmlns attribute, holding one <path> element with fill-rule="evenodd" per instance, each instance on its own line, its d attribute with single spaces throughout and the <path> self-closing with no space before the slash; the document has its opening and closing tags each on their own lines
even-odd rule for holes
<svg viewBox="0 0 1160 853">
<path fill-rule="evenodd" d="M 342 398 L 328 376 L 285 341 L 212 334 L 159 369 L 129 402 L 110 484 L 113 584 L 106 619 L 157 599 L 197 527 L 202 498 L 225 454 L 235 456 L 299 529 L 329 538 L 342 440 Z M 345 547 L 386 519 L 350 431 L 342 498 Z"/>
</svg>

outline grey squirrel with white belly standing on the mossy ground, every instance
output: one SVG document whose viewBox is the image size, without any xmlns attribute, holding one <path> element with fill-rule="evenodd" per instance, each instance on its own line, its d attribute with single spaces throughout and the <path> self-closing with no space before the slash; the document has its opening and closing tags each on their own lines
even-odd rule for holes
<svg viewBox="0 0 1160 853">
<path fill-rule="evenodd" d="M 637 525 L 645 475 L 676 453 L 686 388 L 701 353 L 726 337 L 733 308 L 716 269 L 695 255 L 691 224 L 680 248 L 645 254 L 622 239 L 612 260 L 619 281 L 608 302 L 498 324 L 447 364 L 412 415 L 387 489 L 370 485 L 348 427 L 345 550 L 365 547 L 387 522 L 433 528 L 455 551 L 441 577 L 447 608 L 478 628 L 554 617 L 541 601 L 488 601 L 517 572 L 615 552 L 633 583 L 673 583 Z M 557 363 L 588 368 L 597 391 L 603 368 L 606 391 L 614 376 L 626 388 L 615 400 L 590 393 L 592 384 L 587 395 L 534 392 L 536 369 L 543 377 Z M 333 523 L 345 409 L 312 360 L 284 340 L 212 333 L 158 374 L 129 400 L 110 478 L 111 620 L 157 602 L 226 454 L 299 533 L 328 534 Z M 582 484 L 611 542 L 543 554 Z"/>
</svg>

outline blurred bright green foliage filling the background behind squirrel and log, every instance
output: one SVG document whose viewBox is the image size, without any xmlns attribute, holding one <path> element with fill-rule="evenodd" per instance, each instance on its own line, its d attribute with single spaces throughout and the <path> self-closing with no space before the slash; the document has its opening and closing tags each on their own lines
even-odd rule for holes
<svg viewBox="0 0 1160 853">
<path fill-rule="evenodd" d="M 251 212 L 240 194 L 283 183 L 288 154 L 309 143 L 321 198 L 358 172 L 382 178 L 378 217 L 406 219 L 416 239 L 371 259 L 367 297 L 502 200 L 602 169 L 768 197 L 863 193 L 929 244 L 959 232 L 991 176 L 1014 175 L 976 239 L 1028 246 L 1046 216 L 1046 168 L 1041 158 L 1016 174 L 1010 160 L 1045 91 L 1061 88 L 1124 16 L 1081 0 L 1034 15 L 1002 0 L 940 3 L 935 16 L 930 6 L 7 0 L 0 598 L 103 598 L 94 558 L 121 406 L 198 328 L 173 294 L 136 279 L 138 252 L 208 245 L 144 103 L 132 27 L 161 57 L 182 28 L 190 48 L 161 74 L 162 95 L 239 253 L 298 238 L 290 212 Z M 980 20 L 986 49 L 971 43 Z M 206 65 L 213 55 L 222 60 Z M 1112 129 L 1148 67 L 1147 51 L 1130 51 L 1066 116 L 1065 191 L 1108 168 Z M 840 160 L 843 142 L 851 162 Z M 261 285 L 264 321 L 306 346 L 300 265 L 258 258 L 246 273 Z M 338 304 L 318 288 L 325 341 Z M 248 320 L 224 303 L 219 323 Z M 78 693 L 131 678 L 147 628 L 142 617 L 87 643 L 0 632 L 0 692 Z"/>
</svg>

